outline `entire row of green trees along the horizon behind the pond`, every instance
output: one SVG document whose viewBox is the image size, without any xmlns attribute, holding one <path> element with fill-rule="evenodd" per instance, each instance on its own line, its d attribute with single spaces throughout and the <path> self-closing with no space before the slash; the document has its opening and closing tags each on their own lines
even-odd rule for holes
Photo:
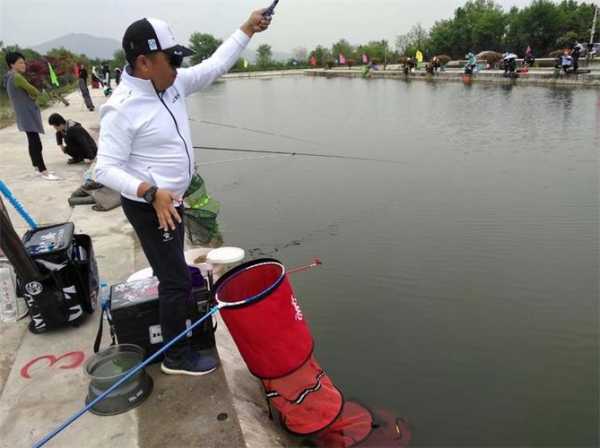
<svg viewBox="0 0 600 448">
<path fill-rule="evenodd" d="M 425 29 L 420 24 L 413 26 L 408 33 L 397 37 L 395 46 L 386 40 L 352 45 L 347 39 L 340 39 L 331 46 L 318 45 L 311 51 L 303 47 L 295 48 L 287 61 L 276 61 L 271 47 L 263 44 L 256 51 L 254 63 L 240 59 L 232 71 L 332 66 L 340 62 L 340 55 L 343 55 L 349 66 L 362 63 L 365 57 L 369 62 L 397 63 L 402 62 L 405 57 L 414 57 L 417 51 L 421 51 L 427 59 L 435 55 L 461 59 L 470 51 L 510 51 L 523 54 L 527 47 L 531 47 L 536 57 L 543 57 L 552 51 L 570 47 L 576 40 L 588 42 L 594 8 L 592 3 L 576 0 L 533 0 L 523 8 L 513 7 L 505 11 L 493 0 L 469 0 L 458 7 L 451 18 L 435 22 L 431 29 Z M 211 34 L 192 34 L 190 47 L 195 54 L 190 63 L 197 64 L 210 57 L 221 43 L 221 39 Z M 0 79 L 7 70 L 4 55 L 14 50 L 25 55 L 28 60 L 28 77 L 34 85 L 41 88 L 47 84 L 48 62 L 53 65 L 62 85 L 75 81 L 75 64 L 99 67 L 108 62 L 112 69 L 125 65 L 122 50 L 116 51 L 111 61 L 104 61 L 90 59 L 83 54 L 77 55 L 64 48 L 53 49 L 46 55 L 41 55 L 18 46 L 4 47 L 0 42 Z M 0 83 L 0 89 L 3 88 Z"/>
</svg>

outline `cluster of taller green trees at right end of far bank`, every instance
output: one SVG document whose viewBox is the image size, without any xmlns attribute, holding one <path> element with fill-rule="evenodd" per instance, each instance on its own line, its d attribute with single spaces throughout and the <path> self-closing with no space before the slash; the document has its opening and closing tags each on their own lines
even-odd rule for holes
<svg viewBox="0 0 600 448">
<path fill-rule="evenodd" d="M 486 50 L 522 55 L 531 47 L 536 57 L 544 57 L 576 40 L 589 42 L 594 8 L 593 3 L 574 0 L 534 0 L 504 11 L 492 0 L 471 0 L 430 30 L 415 25 L 398 36 L 396 47 L 406 55 L 419 49 L 428 56 L 446 54 L 453 59 Z"/>
</svg>

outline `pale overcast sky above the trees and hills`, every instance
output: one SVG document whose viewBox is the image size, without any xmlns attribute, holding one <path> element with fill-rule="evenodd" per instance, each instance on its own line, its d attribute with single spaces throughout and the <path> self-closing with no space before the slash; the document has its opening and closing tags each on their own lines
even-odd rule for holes
<svg viewBox="0 0 600 448">
<path fill-rule="evenodd" d="M 129 23 L 157 17 L 186 41 L 195 31 L 226 37 L 253 9 L 270 0 L 0 0 L 0 40 L 36 45 L 68 33 L 88 33 L 121 40 Z M 352 44 L 389 39 L 395 42 L 416 23 L 430 27 L 451 17 L 460 0 L 280 0 L 269 31 L 252 47 L 268 43 L 274 50 L 312 49 L 340 38 Z M 504 8 L 530 0 L 500 0 Z"/>
</svg>

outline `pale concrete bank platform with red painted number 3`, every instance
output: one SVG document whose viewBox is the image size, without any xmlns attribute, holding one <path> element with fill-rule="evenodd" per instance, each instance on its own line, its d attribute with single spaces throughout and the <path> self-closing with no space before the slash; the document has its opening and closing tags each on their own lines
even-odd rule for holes
<svg viewBox="0 0 600 448">
<path fill-rule="evenodd" d="M 97 107 L 105 101 L 98 90 L 92 94 Z M 69 107 L 61 104 L 45 110 L 44 123 L 50 113 L 59 112 L 97 135 L 98 112 L 88 112 L 78 92 L 68 99 Z M 90 206 L 69 207 L 67 198 L 82 183 L 88 167 L 67 165 L 53 131 L 48 125 L 45 128 L 46 164 L 64 180 L 48 182 L 34 174 L 26 137 L 14 125 L 0 130 L 0 178 L 41 224 L 71 220 L 78 232 L 92 236 L 104 280 L 112 284 L 126 279 L 147 265 L 133 229 L 120 208 L 95 212 Z M 25 223 L 8 208 L 17 232 L 23 234 Z M 88 380 L 81 366 L 92 355 L 98 319 L 96 313 L 79 328 L 43 335 L 26 329 L 28 318 L 16 324 L 0 323 L 0 447 L 31 446 L 83 407 Z M 252 448 L 294 444 L 268 419 L 262 389 L 246 370 L 222 323 L 217 340 L 222 367 L 214 374 L 173 377 L 152 366 L 148 371 L 154 379 L 154 392 L 144 404 L 114 417 L 86 414 L 48 446 Z"/>
</svg>

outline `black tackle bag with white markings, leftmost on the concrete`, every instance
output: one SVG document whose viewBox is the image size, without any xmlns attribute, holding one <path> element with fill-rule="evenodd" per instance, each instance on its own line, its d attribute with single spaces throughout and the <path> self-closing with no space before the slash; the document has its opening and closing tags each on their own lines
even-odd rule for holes
<svg viewBox="0 0 600 448">
<path fill-rule="evenodd" d="M 64 223 L 28 231 L 23 237 L 42 278 L 43 292 L 26 294 L 33 333 L 78 326 L 96 308 L 98 267 L 92 241 L 87 235 L 75 235 L 74 230 L 73 223 Z"/>
</svg>

